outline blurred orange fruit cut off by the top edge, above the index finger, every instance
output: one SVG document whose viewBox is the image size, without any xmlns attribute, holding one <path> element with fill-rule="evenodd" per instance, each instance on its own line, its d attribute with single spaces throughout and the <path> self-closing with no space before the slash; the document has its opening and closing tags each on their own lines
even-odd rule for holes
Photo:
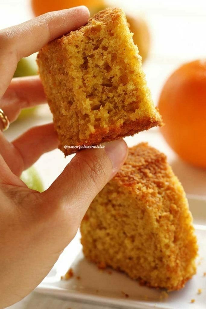
<svg viewBox="0 0 206 309">
<path fill-rule="evenodd" d="M 69 9 L 73 6 L 86 5 L 88 8 L 90 6 L 101 6 L 104 4 L 103 0 L 31 0 L 32 1 L 32 10 L 35 16 L 41 14 L 58 11 L 63 9 Z"/>
</svg>

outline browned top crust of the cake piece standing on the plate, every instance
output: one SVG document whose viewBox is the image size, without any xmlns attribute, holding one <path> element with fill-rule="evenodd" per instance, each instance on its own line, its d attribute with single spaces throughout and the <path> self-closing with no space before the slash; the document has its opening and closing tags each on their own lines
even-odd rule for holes
<svg viewBox="0 0 206 309">
<path fill-rule="evenodd" d="M 130 148 L 127 160 L 113 178 L 125 187 L 135 190 L 142 190 L 144 187 L 149 194 L 166 188 L 170 193 L 174 192 L 171 179 L 178 181 L 167 163 L 166 155 L 148 143 L 140 143 Z"/>
</svg>

